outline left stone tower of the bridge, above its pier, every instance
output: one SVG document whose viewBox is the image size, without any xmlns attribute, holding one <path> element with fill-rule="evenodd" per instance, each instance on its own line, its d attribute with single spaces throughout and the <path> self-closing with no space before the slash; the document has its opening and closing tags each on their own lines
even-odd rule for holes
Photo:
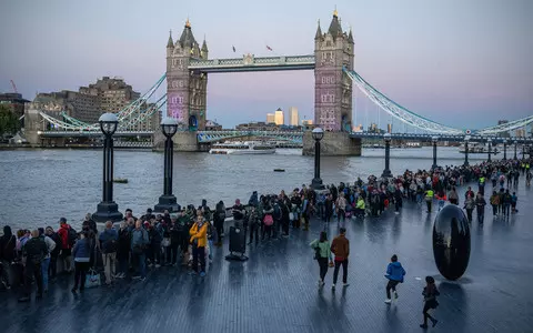
<svg viewBox="0 0 533 333">
<path fill-rule="evenodd" d="M 205 129 L 208 75 L 189 71 L 191 59 L 208 59 L 205 39 L 200 48 L 189 19 L 180 39 L 167 43 L 167 114 L 197 130 Z"/>
</svg>

